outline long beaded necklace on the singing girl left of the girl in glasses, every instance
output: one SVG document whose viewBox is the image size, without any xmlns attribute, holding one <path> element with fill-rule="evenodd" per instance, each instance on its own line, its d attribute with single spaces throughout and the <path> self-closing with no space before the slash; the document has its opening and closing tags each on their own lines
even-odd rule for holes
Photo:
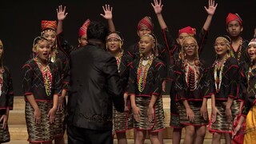
<svg viewBox="0 0 256 144">
<path fill-rule="evenodd" d="M 154 60 L 154 54 L 150 54 L 150 58 L 147 62 L 146 65 L 143 65 L 142 62 L 145 61 L 143 58 L 140 58 L 139 64 L 138 64 L 138 77 L 137 77 L 137 82 L 138 82 L 138 90 L 142 92 L 146 86 L 146 76 L 147 76 L 147 71 L 149 70 L 152 62 Z"/>
</svg>

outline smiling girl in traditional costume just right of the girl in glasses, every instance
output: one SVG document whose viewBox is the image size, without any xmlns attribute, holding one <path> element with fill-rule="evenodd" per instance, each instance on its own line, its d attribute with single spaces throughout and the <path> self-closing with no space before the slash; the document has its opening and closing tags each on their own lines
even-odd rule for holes
<svg viewBox="0 0 256 144">
<path fill-rule="evenodd" d="M 239 111 L 238 105 L 238 61 L 232 57 L 231 40 L 223 35 L 216 38 L 214 50 L 216 60 L 210 67 L 211 106 L 209 130 L 213 133 L 212 143 L 220 143 L 224 134 L 226 143 L 231 143 L 231 130 L 235 116 Z"/>
</svg>

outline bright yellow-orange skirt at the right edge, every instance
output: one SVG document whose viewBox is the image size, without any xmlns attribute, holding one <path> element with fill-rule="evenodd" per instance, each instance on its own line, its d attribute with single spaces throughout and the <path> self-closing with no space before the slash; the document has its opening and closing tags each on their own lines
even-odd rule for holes
<svg viewBox="0 0 256 144">
<path fill-rule="evenodd" d="M 250 109 L 246 117 L 246 134 L 243 143 L 253 144 L 256 141 L 256 104 Z"/>
</svg>

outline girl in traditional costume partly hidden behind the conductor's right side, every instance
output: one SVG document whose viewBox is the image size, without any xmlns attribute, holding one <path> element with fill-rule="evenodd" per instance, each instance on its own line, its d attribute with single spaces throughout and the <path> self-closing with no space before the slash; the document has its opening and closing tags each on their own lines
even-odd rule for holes
<svg viewBox="0 0 256 144">
<path fill-rule="evenodd" d="M 130 65 L 133 61 L 132 58 L 122 49 L 123 38 L 122 34 L 118 31 L 110 32 L 106 38 L 106 50 L 113 54 L 117 60 L 118 64 L 118 73 L 122 81 L 122 89 L 124 90 L 124 99 L 125 99 L 125 112 L 120 113 L 114 109 L 113 112 L 113 124 L 114 132 L 117 135 L 119 144 L 127 144 L 126 131 L 134 128 L 134 118 L 132 115 L 132 110 L 130 106 L 130 98 L 128 98 L 128 93 L 126 90 Z"/>
</svg>

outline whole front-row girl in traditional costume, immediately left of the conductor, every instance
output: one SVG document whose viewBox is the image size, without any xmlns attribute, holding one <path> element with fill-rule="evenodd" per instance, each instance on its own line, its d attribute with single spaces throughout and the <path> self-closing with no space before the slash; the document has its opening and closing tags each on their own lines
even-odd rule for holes
<svg viewBox="0 0 256 144">
<path fill-rule="evenodd" d="M 50 42 L 42 36 L 34 39 L 34 58 L 22 66 L 26 128 L 30 143 L 52 143 L 54 119 L 61 94 L 58 67 L 50 62 Z"/>
</svg>

